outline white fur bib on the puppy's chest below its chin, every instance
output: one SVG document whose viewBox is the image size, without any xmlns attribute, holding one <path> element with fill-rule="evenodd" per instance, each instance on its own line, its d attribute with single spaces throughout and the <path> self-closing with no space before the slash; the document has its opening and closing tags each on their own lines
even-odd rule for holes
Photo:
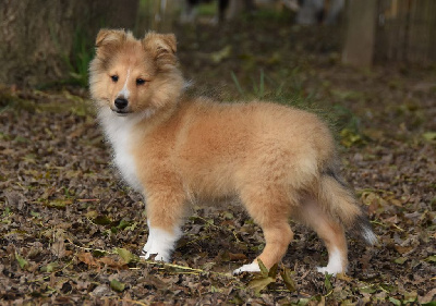
<svg viewBox="0 0 436 306">
<path fill-rule="evenodd" d="M 133 128 L 138 120 L 130 115 L 118 117 L 109 109 L 100 110 L 99 119 L 106 137 L 112 145 L 113 161 L 122 178 L 132 188 L 143 192 L 132 155 Z"/>
</svg>

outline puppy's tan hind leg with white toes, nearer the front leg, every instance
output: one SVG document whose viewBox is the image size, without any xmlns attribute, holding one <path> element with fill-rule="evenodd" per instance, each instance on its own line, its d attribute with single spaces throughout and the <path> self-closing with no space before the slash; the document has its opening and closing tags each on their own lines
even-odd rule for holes
<svg viewBox="0 0 436 306">
<path fill-rule="evenodd" d="M 264 232 L 265 248 L 252 264 L 242 266 L 233 273 L 259 271 L 257 259 L 261 259 L 265 267 L 269 269 L 281 260 L 293 238 L 288 219 L 291 206 L 287 195 L 280 194 L 279 189 L 258 189 L 257 187 L 257 189 L 243 191 L 241 199 L 251 217 Z"/>
</svg>

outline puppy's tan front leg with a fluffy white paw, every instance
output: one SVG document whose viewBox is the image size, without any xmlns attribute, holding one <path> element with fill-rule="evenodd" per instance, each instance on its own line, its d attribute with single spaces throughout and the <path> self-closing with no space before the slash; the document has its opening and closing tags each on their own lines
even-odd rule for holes
<svg viewBox="0 0 436 306">
<path fill-rule="evenodd" d="M 169 261 L 181 236 L 185 197 L 173 186 L 147 187 L 148 240 L 143 248 L 144 259 L 156 255 L 155 260 Z"/>
</svg>

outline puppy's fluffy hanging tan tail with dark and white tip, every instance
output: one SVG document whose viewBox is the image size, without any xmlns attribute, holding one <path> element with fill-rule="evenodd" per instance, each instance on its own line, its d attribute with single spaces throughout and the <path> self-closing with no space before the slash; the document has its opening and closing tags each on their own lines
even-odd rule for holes
<svg viewBox="0 0 436 306">
<path fill-rule="evenodd" d="M 351 233 L 363 237 L 370 245 L 377 242 L 371 223 L 354 194 L 331 169 L 322 174 L 318 201 Z"/>
</svg>

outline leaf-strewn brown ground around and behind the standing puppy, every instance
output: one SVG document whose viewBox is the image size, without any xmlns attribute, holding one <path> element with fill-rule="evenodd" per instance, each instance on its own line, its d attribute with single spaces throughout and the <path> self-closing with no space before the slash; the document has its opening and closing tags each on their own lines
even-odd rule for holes
<svg viewBox="0 0 436 306">
<path fill-rule="evenodd" d="M 194 91 L 320 113 L 378 243 L 349 238 L 347 274 L 307 228 L 278 271 L 232 276 L 263 248 L 238 204 L 194 206 L 171 264 L 140 260 L 144 201 L 111 167 L 86 88 L 0 87 L 0 304 L 435 305 L 436 69 L 340 64 L 335 28 L 281 20 L 177 30 Z M 432 304 L 433 301 L 433 304 Z"/>
</svg>

